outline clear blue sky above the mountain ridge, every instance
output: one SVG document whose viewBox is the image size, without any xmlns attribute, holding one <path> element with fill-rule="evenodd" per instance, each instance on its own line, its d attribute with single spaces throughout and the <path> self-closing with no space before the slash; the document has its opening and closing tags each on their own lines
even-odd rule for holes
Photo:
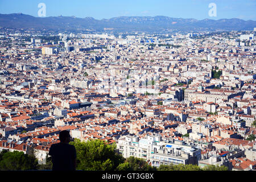
<svg viewBox="0 0 256 182">
<path fill-rule="evenodd" d="M 256 20 L 256 0 L 0 0 L 0 14 L 23 13 L 38 16 L 45 3 L 46 16 L 76 16 L 95 19 L 117 16 L 170 16 L 172 18 Z M 217 16 L 209 16 L 215 3 Z"/>
</svg>

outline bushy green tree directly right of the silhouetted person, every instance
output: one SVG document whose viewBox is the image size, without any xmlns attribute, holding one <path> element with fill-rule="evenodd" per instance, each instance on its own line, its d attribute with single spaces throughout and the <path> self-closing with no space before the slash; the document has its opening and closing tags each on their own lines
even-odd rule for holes
<svg viewBox="0 0 256 182">
<path fill-rule="evenodd" d="M 124 162 L 121 154 L 118 154 L 116 144 L 108 144 L 100 139 L 81 142 L 75 139 L 71 142 L 76 147 L 77 169 L 84 171 L 109 171 L 114 170 Z"/>
</svg>

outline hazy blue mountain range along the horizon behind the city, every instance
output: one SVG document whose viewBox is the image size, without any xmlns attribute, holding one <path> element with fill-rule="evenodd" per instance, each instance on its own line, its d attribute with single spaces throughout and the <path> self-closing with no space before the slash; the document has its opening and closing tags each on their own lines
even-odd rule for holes
<svg viewBox="0 0 256 182">
<path fill-rule="evenodd" d="M 256 27 L 254 20 L 232 19 L 183 19 L 168 16 L 119 16 L 110 19 L 76 18 L 75 16 L 34 17 L 22 13 L 0 14 L 0 27 L 40 28 L 45 30 L 96 31 L 245 31 Z"/>
</svg>

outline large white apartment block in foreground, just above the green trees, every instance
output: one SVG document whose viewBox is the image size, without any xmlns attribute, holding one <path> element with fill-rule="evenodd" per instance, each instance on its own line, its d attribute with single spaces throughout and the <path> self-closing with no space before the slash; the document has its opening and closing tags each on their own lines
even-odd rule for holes
<svg viewBox="0 0 256 182">
<path fill-rule="evenodd" d="M 125 158 L 134 156 L 150 161 L 152 166 L 160 164 L 196 164 L 201 159 L 200 148 L 193 143 L 184 141 L 162 140 L 159 136 L 147 136 L 139 139 L 137 136 L 119 138 L 117 149 Z"/>
</svg>

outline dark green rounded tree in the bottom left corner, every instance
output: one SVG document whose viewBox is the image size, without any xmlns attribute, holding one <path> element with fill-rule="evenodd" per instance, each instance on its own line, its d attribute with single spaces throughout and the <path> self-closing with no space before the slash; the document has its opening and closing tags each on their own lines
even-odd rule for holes
<svg viewBox="0 0 256 182">
<path fill-rule="evenodd" d="M 2 155 L 0 161 L 1 171 L 23 171 L 35 170 L 38 165 L 38 160 L 35 156 L 24 154 L 23 152 L 14 151 L 6 152 Z"/>
</svg>

